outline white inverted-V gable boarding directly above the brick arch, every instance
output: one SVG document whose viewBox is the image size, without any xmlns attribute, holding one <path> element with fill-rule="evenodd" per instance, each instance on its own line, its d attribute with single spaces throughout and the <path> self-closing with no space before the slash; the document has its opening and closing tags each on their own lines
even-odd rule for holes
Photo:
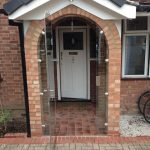
<svg viewBox="0 0 150 150">
<path fill-rule="evenodd" d="M 95 2 L 92 2 L 91 0 L 80 0 L 69 2 L 68 0 L 52 0 L 51 2 L 44 4 L 43 6 L 33 10 L 32 12 L 29 12 L 17 19 L 19 20 L 42 20 L 45 17 L 45 10 L 46 12 L 49 12 L 50 14 L 54 14 L 55 12 L 63 9 L 66 6 L 69 6 L 70 4 L 73 4 L 74 6 L 77 6 L 85 11 L 90 12 L 91 14 L 104 19 L 104 20 L 115 20 L 115 19 L 122 19 L 124 17 L 118 15 L 115 12 L 110 11 L 109 9 L 106 9 L 105 7 L 101 5 L 97 5 Z"/>
</svg>

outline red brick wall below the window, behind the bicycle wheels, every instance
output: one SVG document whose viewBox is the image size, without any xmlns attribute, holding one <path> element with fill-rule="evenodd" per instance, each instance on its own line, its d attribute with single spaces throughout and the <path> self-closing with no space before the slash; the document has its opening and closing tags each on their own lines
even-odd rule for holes
<svg viewBox="0 0 150 150">
<path fill-rule="evenodd" d="M 137 113 L 137 99 L 144 90 L 148 89 L 150 89 L 149 80 L 122 80 L 121 112 L 124 114 Z"/>
</svg>

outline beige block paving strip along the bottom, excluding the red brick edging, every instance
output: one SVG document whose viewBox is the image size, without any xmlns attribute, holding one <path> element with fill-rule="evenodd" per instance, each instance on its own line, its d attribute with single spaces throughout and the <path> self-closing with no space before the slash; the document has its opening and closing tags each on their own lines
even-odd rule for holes
<svg viewBox="0 0 150 150">
<path fill-rule="evenodd" d="M 150 150 L 150 143 L 144 144 L 14 144 L 0 145 L 0 150 Z"/>
</svg>

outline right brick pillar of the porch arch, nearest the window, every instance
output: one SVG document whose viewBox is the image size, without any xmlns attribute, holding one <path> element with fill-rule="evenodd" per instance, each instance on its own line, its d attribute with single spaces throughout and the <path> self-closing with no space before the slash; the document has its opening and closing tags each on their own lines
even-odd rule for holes
<svg viewBox="0 0 150 150">
<path fill-rule="evenodd" d="M 104 28 L 104 32 L 109 49 L 107 132 L 110 135 L 118 135 L 120 122 L 121 40 L 116 26 L 112 22 Z"/>
</svg>

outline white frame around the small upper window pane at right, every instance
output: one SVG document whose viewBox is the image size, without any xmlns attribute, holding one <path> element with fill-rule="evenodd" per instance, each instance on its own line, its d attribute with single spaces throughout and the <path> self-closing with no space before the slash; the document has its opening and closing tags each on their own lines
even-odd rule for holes
<svg viewBox="0 0 150 150">
<path fill-rule="evenodd" d="M 125 29 L 125 33 L 147 33 L 150 31 L 150 17 L 148 16 L 137 16 L 137 17 L 147 17 L 147 30 L 127 30 L 127 20 L 124 20 L 124 29 Z"/>
</svg>

